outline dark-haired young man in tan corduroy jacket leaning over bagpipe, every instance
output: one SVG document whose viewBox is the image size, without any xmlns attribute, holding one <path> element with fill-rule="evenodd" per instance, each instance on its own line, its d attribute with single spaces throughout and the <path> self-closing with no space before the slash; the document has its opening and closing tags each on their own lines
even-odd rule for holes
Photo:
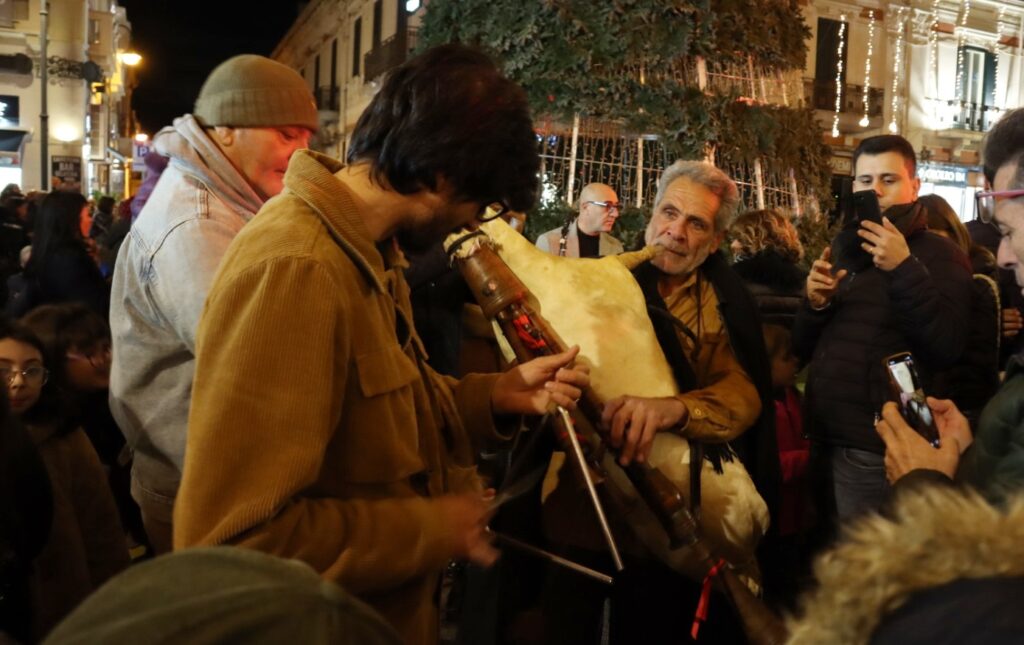
<svg viewBox="0 0 1024 645">
<path fill-rule="evenodd" d="M 296 153 L 284 192 L 227 250 L 200 320 L 176 549 L 302 560 L 401 642 L 437 642 L 444 565 L 497 556 L 475 441 L 511 438 L 496 425 L 506 416 L 573 408 L 589 379 L 570 367 L 577 348 L 503 374 L 438 375 L 399 244 L 429 248 L 530 208 L 539 169 L 524 92 L 461 45 L 388 74 L 347 165 Z"/>
</svg>

